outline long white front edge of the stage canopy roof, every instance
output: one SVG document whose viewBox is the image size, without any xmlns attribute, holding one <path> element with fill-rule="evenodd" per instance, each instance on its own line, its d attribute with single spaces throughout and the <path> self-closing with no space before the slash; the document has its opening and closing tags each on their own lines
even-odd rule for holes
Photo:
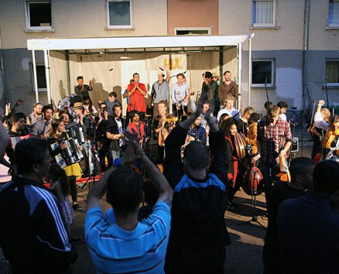
<svg viewBox="0 0 339 274">
<path fill-rule="evenodd" d="M 140 49 L 235 46 L 250 36 L 140 36 L 110 38 L 45 38 L 27 40 L 29 50 Z"/>
</svg>

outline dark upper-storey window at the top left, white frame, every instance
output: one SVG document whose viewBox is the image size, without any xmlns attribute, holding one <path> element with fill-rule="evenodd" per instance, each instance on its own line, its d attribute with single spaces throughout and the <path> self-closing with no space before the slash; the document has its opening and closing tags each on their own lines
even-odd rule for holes
<svg viewBox="0 0 339 274">
<path fill-rule="evenodd" d="M 27 29 L 52 29 L 51 1 L 25 1 Z"/>
</svg>

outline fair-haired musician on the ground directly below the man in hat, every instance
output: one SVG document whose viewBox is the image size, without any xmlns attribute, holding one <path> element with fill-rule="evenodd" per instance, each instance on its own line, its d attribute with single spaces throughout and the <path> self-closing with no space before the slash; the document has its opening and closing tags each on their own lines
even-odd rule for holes
<svg viewBox="0 0 339 274">
<path fill-rule="evenodd" d="M 158 103 L 158 115 L 153 119 L 153 139 L 158 140 L 158 155 L 160 164 L 164 162 L 164 142 L 162 142 L 161 131 L 166 125 L 166 116 L 168 103 L 167 101 L 159 101 Z"/>
</svg>

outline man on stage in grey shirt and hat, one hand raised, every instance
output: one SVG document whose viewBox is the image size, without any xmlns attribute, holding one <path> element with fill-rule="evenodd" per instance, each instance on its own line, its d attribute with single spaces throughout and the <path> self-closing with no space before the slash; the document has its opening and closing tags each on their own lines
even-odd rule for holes
<svg viewBox="0 0 339 274">
<path fill-rule="evenodd" d="M 153 101 L 153 118 L 159 114 L 158 104 L 160 101 L 168 102 L 168 88 L 169 88 L 169 66 L 165 66 L 166 78 L 162 71 L 158 71 L 158 81 L 153 83 L 151 92 L 151 102 Z"/>
</svg>

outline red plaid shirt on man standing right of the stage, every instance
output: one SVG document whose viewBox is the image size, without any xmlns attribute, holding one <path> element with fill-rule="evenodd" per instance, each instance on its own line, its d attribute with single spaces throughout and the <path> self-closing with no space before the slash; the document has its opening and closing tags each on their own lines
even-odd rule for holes
<svg viewBox="0 0 339 274">
<path fill-rule="evenodd" d="M 265 116 L 258 123 L 257 140 L 261 142 L 261 159 L 264 162 L 279 162 L 280 151 L 284 149 L 286 142 L 292 142 L 290 124 L 279 118 L 277 123 L 272 125 Z"/>
</svg>

